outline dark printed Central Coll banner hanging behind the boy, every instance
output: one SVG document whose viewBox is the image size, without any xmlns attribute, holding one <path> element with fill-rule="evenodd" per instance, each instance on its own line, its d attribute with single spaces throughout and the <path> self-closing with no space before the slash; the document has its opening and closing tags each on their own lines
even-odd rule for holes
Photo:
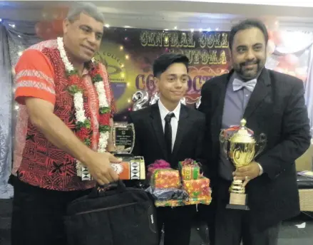
<svg viewBox="0 0 313 245">
<path fill-rule="evenodd" d="M 95 58 L 106 65 L 110 75 L 118 108 L 115 120 L 127 119 L 137 90 L 146 90 L 149 95 L 155 92 L 153 61 L 167 52 L 183 53 L 190 60 L 189 105 L 199 98 L 206 80 L 230 70 L 228 32 L 106 28 Z"/>
</svg>

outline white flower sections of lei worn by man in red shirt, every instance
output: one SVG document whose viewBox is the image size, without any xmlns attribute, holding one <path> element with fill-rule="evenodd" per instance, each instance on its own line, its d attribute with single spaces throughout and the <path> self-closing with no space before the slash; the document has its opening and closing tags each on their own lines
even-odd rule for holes
<svg viewBox="0 0 313 245">
<path fill-rule="evenodd" d="M 57 43 L 58 43 L 58 51 L 60 52 L 61 59 L 63 61 L 63 64 L 66 68 L 66 71 L 72 72 L 74 71 L 74 67 L 72 63 L 68 60 L 68 57 L 66 56 L 66 51 L 64 49 L 64 43 L 63 43 L 63 38 L 57 38 Z M 94 59 L 92 59 L 92 62 L 94 62 Z M 108 100 L 106 98 L 106 91 L 104 90 L 104 83 L 103 81 L 99 81 L 94 83 L 96 87 L 96 91 L 98 94 L 98 101 L 99 101 L 99 108 L 108 108 Z M 86 114 L 85 110 L 83 109 L 83 93 L 77 92 L 73 95 L 73 101 L 74 101 L 74 107 L 75 107 L 75 116 L 76 116 L 76 122 L 85 122 L 86 121 Z M 99 137 L 99 143 L 98 143 L 98 152 L 106 152 L 106 147 L 108 145 L 108 137 L 110 135 L 110 132 L 100 132 L 100 137 Z M 86 172 L 86 167 L 83 167 L 82 163 L 76 160 L 76 170 L 77 170 L 77 175 L 83 177 L 85 175 L 83 172 Z M 87 174 L 88 175 L 88 174 Z M 89 176 L 85 176 L 86 180 L 90 179 L 90 174 Z"/>
</svg>

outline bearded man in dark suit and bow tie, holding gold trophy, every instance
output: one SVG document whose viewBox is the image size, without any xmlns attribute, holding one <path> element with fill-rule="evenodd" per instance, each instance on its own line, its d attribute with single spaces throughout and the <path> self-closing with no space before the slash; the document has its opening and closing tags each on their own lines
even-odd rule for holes
<svg viewBox="0 0 313 245">
<path fill-rule="evenodd" d="M 302 80 L 265 68 L 267 29 L 246 20 L 230 31 L 233 70 L 208 80 L 199 110 L 206 115 L 215 200 L 215 245 L 275 245 L 279 224 L 299 214 L 294 160 L 310 144 Z M 235 170 L 220 154 L 220 130 L 240 125 L 267 135 L 262 154 Z M 246 180 L 250 211 L 225 209 L 232 179 Z M 212 206 L 213 207 L 213 206 Z M 211 207 L 211 208 L 212 208 Z"/>
</svg>

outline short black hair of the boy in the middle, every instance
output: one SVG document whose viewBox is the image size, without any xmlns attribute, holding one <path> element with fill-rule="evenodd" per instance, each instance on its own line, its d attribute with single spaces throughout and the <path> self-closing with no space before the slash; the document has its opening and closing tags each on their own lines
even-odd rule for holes
<svg viewBox="0 0 313 245">
<path fill-rule="evenodd" d="M 180 53 L 163 53 L 153 63 L 153 75 L 158 77 L 173 63 L 183 63 L 188 71 L 189 59 Z"/>
</svg>

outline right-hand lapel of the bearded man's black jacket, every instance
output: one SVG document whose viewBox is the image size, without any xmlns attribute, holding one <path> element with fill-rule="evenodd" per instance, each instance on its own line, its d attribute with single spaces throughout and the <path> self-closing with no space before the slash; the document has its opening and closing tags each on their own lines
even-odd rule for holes
<svg viewBox="0 0 313 245">
<path fill-rule="evenodd" d="M 260 77 L 257 80 L 257 85 L 251 94 L 251 98 L 245 109 L 244 118 L 248 120 L 252 113 L 257 109 L 257 107 L 262 103 L 264 98 L 270 93 L 270 75 L 266 68 L 262 70 Z"/>
</svg>

